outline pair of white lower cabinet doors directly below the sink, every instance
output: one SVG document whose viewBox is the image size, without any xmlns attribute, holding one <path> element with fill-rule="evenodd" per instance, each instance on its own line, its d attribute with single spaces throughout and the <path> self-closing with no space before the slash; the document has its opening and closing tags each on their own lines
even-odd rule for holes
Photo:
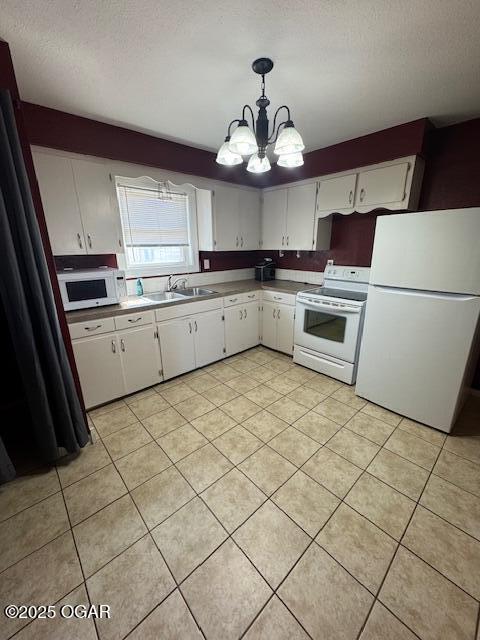
<svg viewBox="0 0 480 640">
<path fill-rule="evenodd" d="M 225 355 L 223 310 L 161 322 L 158 336 L 165 380 L 204 367 Z"/>
</svg>

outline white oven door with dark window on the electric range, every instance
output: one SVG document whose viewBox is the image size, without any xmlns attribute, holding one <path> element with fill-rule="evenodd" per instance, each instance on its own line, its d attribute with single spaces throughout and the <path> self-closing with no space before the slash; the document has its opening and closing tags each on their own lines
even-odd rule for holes
<svg viewBox="0 0 480 640">
<path fill-rule="evenodd" d="M 297 299 L 295 344 L 346 362 L 355 362 L 362 307 Z"/>
</svg>

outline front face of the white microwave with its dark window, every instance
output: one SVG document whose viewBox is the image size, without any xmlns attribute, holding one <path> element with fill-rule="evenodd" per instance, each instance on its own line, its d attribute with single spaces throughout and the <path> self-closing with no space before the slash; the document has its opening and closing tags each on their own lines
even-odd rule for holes
<svg viewBox="0 0 480 640">
<path fill-rule="evenodd" d="M 65 311 L 118 303 L 116 282 L 111 273 L 59 274 L 58 282 Z"/>
</svg>

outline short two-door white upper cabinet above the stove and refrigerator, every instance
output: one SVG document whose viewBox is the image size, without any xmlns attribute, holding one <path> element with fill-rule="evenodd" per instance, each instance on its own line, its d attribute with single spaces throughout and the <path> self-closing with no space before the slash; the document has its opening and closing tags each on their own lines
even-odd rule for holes
<svg viewBox="0 0 480 640">
<path fill-rule="evenodd" d="M 409 156 L 320 178 L 317 217 L 368 213 L 374 209 L 415 210 L 423 169 L 422 158 Z"/>
</svg>

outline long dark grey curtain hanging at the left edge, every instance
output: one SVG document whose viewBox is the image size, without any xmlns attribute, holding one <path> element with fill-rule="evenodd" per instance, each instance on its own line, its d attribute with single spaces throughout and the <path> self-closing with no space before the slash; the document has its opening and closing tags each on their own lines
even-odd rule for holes
<svg viewBox="0 0 480 640">
<path fill-rule="evenodd" d="M 10 93 L 0 90 L 0 301 L 28 405 L 27 431 L 48 463 L 88 442 L 61 334 Z M 8 375 L 8 372 L 4 371 Z M 0 482 L 15 475 L 0 439 Z"/>
</svg>

